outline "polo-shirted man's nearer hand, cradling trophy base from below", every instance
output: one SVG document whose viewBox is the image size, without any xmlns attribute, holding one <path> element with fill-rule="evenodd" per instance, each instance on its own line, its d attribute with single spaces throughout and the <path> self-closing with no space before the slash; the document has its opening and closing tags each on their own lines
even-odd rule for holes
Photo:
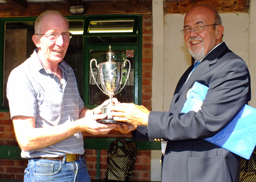
<svg viewBox="0 0 256 182">
<path fill-rule="evenodd" d="M 97 119 L 106 118 L 106 114 L 97 114 L 90 117 L 86 116 L 79 120 L 80 127 L 83 131 L 89 132 L 94 135 L 98 134 L 108 134 L 109 131 L 113 130 L 118 126 L 118 124 L 109 123 L 109 124 L 100 124 L 97 123 Z"/>
</svg>

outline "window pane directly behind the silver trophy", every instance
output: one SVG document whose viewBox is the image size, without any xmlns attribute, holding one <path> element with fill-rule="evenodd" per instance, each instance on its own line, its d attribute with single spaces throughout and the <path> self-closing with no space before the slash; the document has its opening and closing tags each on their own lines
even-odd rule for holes
<svg viewBox="0 0 256 182">
<path fill-rule="evenodd" d="M 117 93 L 114 97 L 118 99 L 119 102 L 133 103 L 134 102 L 134 59 L 133 57 L 127 57 L 126 50 L 112 50 L 115 54 L 113 59 L 115 62 L 124 63 L 125 59 L 128 59 L 131 62 L 131 70 L 127 80 L 126 85 L 124 86 L 125 80 L 127 79 L 127 74 L 129 70 L 129 63 L 127 62 L 123 69 L 123 80 L 121 84 L 121 88 L 123 90 Z M 90 60 L 96 59 L 97 64 L 106 62 L 108 56 L 106 55 L 106 50 L 90 50 Z M 134 52 L 132 50 L 132 52 Z M 98 69 L 95 66 L 95 62 L 92 64 L 94 78 L 97 81 L 99 87 L 101 87 L 101 83 L 99 81 Z M 109 97 L 104 94 L 95 83 L 93 77 L 90 75 L 90 85 L 89 85 L 89 104 L 102 104 L 105 100 L 109 99 Z"/>
</svg>

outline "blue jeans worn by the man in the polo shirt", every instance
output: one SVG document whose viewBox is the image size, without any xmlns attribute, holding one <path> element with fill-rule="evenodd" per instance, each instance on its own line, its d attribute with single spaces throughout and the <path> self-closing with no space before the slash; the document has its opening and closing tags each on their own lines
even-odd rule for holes
<svg viewBox="0 0 256 182">
<path fill-rule="evenodd" d="M 24 182 L 90 182 L 84 157 L 73 162 L 29 159 Z"/>
</svg>

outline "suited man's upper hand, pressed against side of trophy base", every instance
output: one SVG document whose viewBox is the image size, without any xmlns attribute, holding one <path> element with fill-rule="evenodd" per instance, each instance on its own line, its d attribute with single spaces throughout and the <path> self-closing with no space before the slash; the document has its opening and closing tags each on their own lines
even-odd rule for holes
<svg viewBox="0 0 256 182">
<path fill-rule="evenodd" d="M 111 112 L 114 116 L 114 120 L 145 126 L 147 126 L 148 123 L 149 113 L 150 111 L 146 107 L 132 103 L 118 104 L 112 108 Z"/>
</svg>

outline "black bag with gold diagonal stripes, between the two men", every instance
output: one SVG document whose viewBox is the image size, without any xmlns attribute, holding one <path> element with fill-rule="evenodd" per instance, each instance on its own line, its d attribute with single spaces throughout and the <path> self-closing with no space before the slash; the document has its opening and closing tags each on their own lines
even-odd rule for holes
<svg viewBox="0 0 256 182">
<path fill-rule="evenodd" d="M 123 144 L 118 147 L 118 142 Z M 111 142 L 108 150 L 106 180 L 128 181 L 135 174 L 132 171 L 136 161 L 136 143 L 124 139 Z"/>
</svg>

